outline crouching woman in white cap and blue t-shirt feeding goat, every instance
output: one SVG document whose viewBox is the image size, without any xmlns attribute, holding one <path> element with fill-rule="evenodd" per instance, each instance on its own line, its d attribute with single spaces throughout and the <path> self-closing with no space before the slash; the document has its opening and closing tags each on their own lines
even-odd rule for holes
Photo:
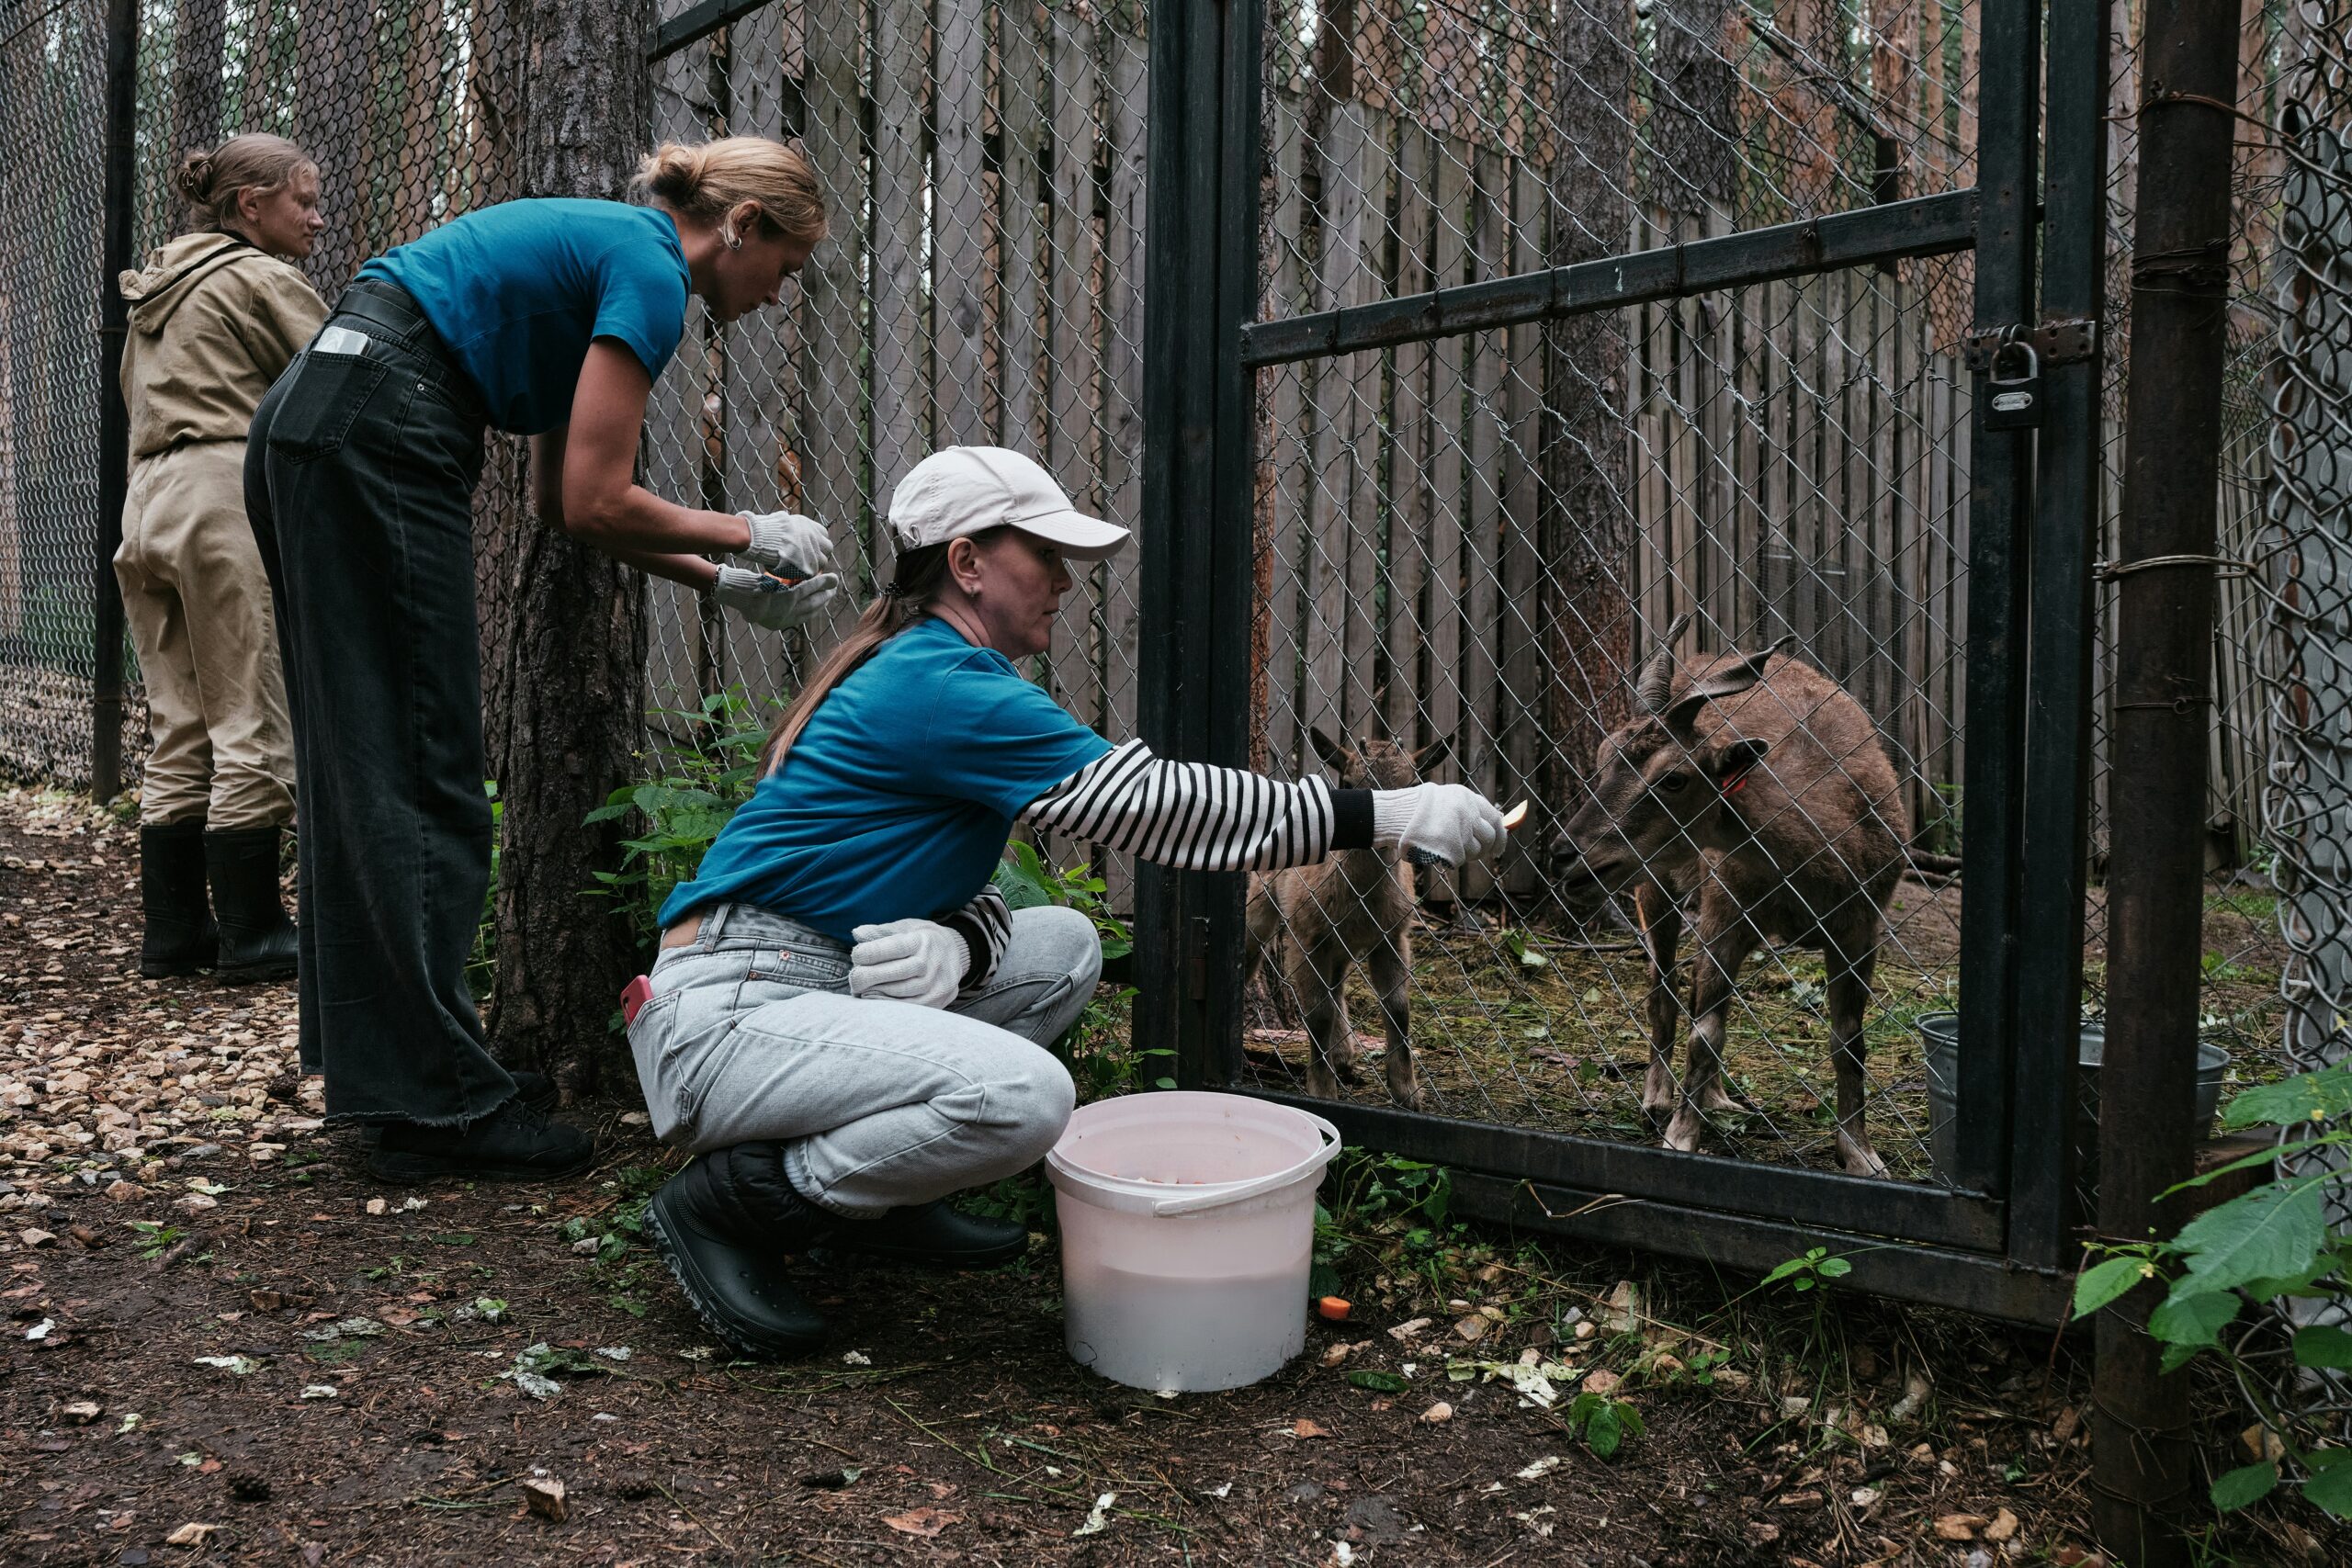
<svg viewBox="0 0 2352 1568">
<path fill-rule="evenodd" d="M 1463 785 L 1162 762 L 1110 745 L 1023 679 L 1070 590 L 1127 529 L 1082 517 L 1030 458 L 948 447 L 898 482 L 896 581 L 809 677 L 767 776 L 661 910 L 628 1001 L 654 1133 L 701 1154 L 647 1229 L 743 1354 L 823 1340 L 781 1253 L 990 1265 L 1018 1225 L 948 1192 L 1040 1159 L 1070 1119 L 1054 1044 L 1094 994 L 1084 914 L 1007 912 L 988 884 L 1016 820 L 1188 870 L 1303 865 L 1367 844 L 1461 865 L 1503 842 Z"/>
</svg>

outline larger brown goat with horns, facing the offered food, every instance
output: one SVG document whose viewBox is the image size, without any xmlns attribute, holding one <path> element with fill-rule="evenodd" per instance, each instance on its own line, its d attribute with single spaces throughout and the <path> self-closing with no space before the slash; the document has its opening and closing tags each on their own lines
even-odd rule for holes
<svg viewBox="0 0 2352 1568">
<path fill-rule="evenodd" d="M 1740 1107 L 1722 1081 L 1731 992 L 1759 943 L 1795 943 L 1818 947 L 1830 971 L 1837 1154 L 1856 1175 L 1884 1175 L 1863 1126 L 1863 1009 L 1907 863 L 1893 764 L 1863 705 L 1788 654 L 1795 639 L 1677 670 L 1686 623 L 1642 668 L 1639 715 L 1602 741 L 1592 795 L 1552 870 L 1564 893 L 1578 882 L 1632 889 L 1651 976 L 1642 1107 L 1672 1110 L 1670 1150 L 1698 1147 L 1705 1112 Z M 1675 952 L 1693 891 L 1691 1051 L 1677 1091 Z"/>
</svg>

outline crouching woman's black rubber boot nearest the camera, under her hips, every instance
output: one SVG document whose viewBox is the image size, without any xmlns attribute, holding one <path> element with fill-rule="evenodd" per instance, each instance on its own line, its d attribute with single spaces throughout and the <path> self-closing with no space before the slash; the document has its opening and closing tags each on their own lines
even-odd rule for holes
<svg viewBox="0 0 2352 1568">
<path fill-rule="evenodd" d="M 781 1143 L 713 1150 L 644 1206 L 670 1276 L 710 1333 L 755 1361 L 804 1356 L 826 1319 L 783 1274 L 783 1255 L 816 1241 L 830 1218 L 783 1175 Z"/>
</svg>

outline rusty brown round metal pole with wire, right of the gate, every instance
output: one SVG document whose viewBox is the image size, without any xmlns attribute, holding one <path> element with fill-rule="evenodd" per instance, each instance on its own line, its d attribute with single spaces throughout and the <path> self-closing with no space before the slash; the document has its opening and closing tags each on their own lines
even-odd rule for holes
<svg viewBox="0 0 2352 1568">
<path fill-rule="evenodd" d="M 2114 839 L 2098 1227 L 2140 1241 L 2190 1175 L 2204 917 L 2213 536 L 2230 320 L 2230 136 L 2239 0 L 2150 0 L 2117 545 Z M 2187 1563 L 2197 1502 L 2187 1380 L 2159 1375 L 2143 1286 L 2098 1319 L 2091 1493 L 2131 1568 Z"/>
</svg>

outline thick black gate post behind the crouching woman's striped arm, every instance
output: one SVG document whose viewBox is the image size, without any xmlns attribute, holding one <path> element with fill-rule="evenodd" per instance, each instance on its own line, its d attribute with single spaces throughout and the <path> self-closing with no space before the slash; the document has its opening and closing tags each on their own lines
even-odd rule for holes
<svg viewBox="0 0 2352 1568">
<path fill-rule="evenodd" d="M 1167 757 L 1249 766 L 1251 381 L 1261 0 L 1155 16 L 1143 275 L 1138 726 Z M 1136 872 L 1136 1048 L 1192 1088 L 1240 1046 L 1242 877 Z"/>
</svg>

